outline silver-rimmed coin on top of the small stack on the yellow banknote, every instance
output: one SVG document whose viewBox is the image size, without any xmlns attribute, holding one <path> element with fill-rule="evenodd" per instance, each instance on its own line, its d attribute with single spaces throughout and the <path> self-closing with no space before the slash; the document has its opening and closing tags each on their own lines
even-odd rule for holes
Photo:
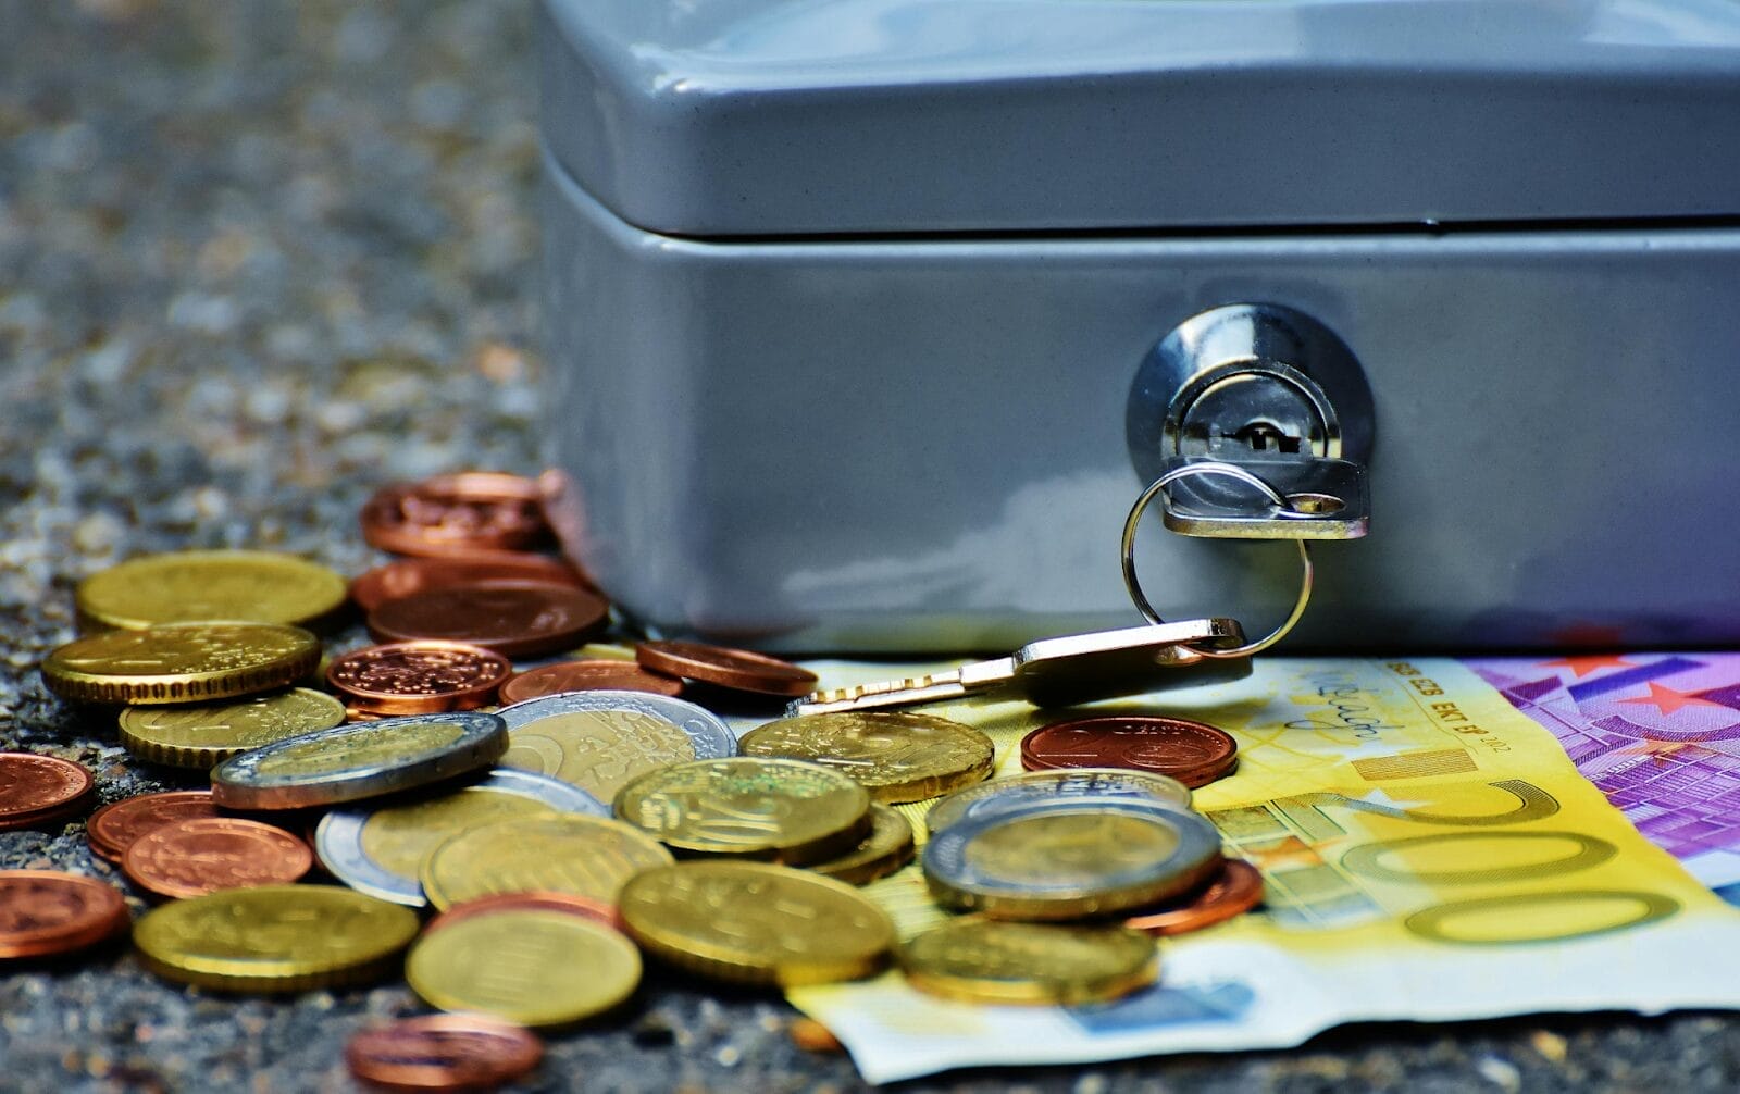
<svg viewBox="0 0 1740 1094">
<path fill-rule="evenodd" d="M 1077 920 L 1188 892 L 1221 866 L 1220 831 L 1155 802 L 1034 802 L 941 830 L 924 847 L 938 903 L 1011 920 Z"/>
</svg>

